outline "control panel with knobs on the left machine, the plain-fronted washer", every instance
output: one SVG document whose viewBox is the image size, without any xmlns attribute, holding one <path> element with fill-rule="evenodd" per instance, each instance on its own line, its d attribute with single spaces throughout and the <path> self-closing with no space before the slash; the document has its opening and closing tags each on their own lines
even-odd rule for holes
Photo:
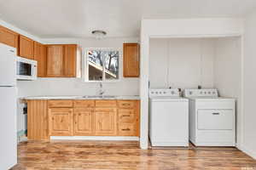
<svg viewBox="0 0 256 170">
<path fill-rule="evenodd" d="M 161 97 L 161 96 L 179 96 L 177 88 L 155 88 L 149 90 L 150 97 Z"/>
</svg>

